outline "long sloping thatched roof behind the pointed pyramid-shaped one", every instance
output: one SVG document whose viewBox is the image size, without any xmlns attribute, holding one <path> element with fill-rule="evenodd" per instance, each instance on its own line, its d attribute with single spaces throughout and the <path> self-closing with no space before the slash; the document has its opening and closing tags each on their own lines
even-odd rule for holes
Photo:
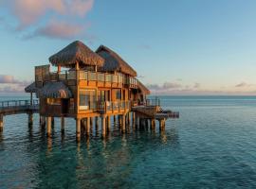
<svg viewBox="0 0 256 189">
<path fill-rule="evenodd" d="M 104 65 L 100 68 L 101 71 L 118 71 L 132 77 L 137 77 L 137 72 L 126 61 L 122 60 L 117 53 L 108 47 L 101 45 L 96 50 L 96 53 L 105 60 Z"/>
</svg>

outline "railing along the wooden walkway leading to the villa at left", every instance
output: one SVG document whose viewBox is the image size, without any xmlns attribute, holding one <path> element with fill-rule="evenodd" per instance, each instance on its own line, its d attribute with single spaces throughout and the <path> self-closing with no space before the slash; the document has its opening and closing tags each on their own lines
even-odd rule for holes
<svg viewBox="0 0 256 189">
<path fill-rule="evenodd" d="M 17 107 L 30 107 L 30 106 L 38 106 L 39 101 L 33 100 L 32 103 L 30 100 L 8 100 L 8 101 L 0 101 L 0 109 L 10 109 Z"/>
</svg>

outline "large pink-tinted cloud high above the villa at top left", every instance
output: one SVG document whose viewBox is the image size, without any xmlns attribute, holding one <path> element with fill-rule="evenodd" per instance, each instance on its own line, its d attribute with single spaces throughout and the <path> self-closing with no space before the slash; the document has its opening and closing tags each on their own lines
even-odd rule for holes
<svg viewBox="0 0 256 189">
<path fill-rule="evenodd" d="M 25 33 L 27 38 L 67 39 L 85 32 L 88 26 L 84 17 L 93 8 L 94 0 L 13 0 L 7 5 L 18 22 L 13 26 L 16 32 Z"/>
</svg>

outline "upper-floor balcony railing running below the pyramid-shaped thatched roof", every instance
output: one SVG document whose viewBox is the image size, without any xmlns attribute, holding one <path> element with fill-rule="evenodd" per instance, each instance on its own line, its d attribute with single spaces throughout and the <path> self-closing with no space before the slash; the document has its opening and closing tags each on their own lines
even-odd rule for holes
<svg viewBox="0 0 256 189">
<path fill-rule="evenodd" d="M 109 83 L 127 84 L 132 87 L 137 87 L 137 78 L 128 77 L 121 73 L 109 74 L 103 72 L 93 71 L 64 71 L 61 73 L 50 72 L 45 77 L 36 76 L 36 81 L 48 81 L 48 80 L 87 80 Z"/>
</svg>

